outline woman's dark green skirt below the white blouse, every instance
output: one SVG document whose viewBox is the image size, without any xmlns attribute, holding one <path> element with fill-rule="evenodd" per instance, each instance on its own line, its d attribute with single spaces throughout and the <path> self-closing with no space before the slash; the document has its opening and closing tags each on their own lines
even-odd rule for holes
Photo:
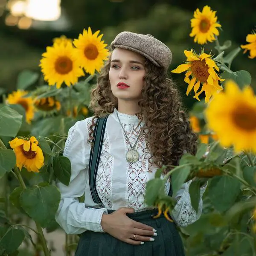
<svg viewBox="0 0 256 256">
<path fill-rule="evenodd" d="M 156 214 L 156 209 L 127 214 L 134 221 L 156 229 L 157 236 L 152 236 L 154 241 L 132 245 L 108 233 L 86 231 L 80 236 L 75 256 L 185 256 L 176 225 L 167 221 L 163 214 L 157 219 L 152 218 Z"/>
</svg>

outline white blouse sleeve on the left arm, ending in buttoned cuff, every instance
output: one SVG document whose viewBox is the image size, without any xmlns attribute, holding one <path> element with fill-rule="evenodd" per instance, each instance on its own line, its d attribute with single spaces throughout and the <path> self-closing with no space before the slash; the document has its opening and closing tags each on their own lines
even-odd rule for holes
<svg viewBox="0 0 256 256">
<path fill-rule="evenodd" d="M 63 155 L 71 162 L 69 186 L 60 181 L 57 181 L 56 184 L 61 192 L 61 201 L 55 219 L 67 234 L 80 234 L 86 230 L 104 232 L 100 223 L 102 214 L 107 213 L 105 208 L 85 208 L 84 203 L 80 203 L 78 200 L 85 191 L 86 172 L 90 157 L 85 120 L 76 122 L 70 128 L 64 147 Z"/>
</svg>

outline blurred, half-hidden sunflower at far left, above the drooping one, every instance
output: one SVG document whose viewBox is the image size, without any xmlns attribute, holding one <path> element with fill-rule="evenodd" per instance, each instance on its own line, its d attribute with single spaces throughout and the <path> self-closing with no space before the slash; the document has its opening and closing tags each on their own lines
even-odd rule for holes
<svg viewBox="0 0 256 256">
<path fill-rule="evenodd" d="M 31 120 L 34 118 L 35 108 L 32 97 L 25 97 L 28 94 L 27 91 L 17 90 L 10 93 L 6 99 L 8 104 L 19 104 L 25 109 L 26 122 L 31 124 Z"/>
</svg>

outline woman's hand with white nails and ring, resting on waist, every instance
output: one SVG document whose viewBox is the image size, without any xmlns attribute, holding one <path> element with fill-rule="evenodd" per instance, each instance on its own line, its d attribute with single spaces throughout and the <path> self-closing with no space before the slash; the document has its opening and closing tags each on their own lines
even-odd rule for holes
<svg viewBox="0 0 256 256">
<path fill-rule="evenodd" d="M 133 213 L 134 209 L 122 207 L 111 214 L 102 215 L 102 229 L 111 236 L 128 244 L 144 244 L 144 241 L 154 241 L 149 236 L 157 236 L 153 227 L 130 219 L 126 213 Z M 135 239 L 132 239 L 134 234 Z"/>
</svg>

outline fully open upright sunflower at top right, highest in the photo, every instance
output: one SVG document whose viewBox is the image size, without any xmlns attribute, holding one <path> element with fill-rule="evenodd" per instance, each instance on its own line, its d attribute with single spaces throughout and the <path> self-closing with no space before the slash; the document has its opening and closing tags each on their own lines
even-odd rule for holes
<svg viewBox="0 0 256 256">
<path fill-rule="evenodd" d="M 194 18 L 191 19 L 192 32 L 190 36 L 194 38 L 194 42 L 198 44 L 205 44 L 207 41 L 215 41 L 215 35 L 218 36 L 219 32 L 217 27 L 221 27 L 217 23 L 216 12 L 213 12 L 209 6 L 204 6 L 203 11 L 200 12 L 196 9 Z"/>
</svg>

